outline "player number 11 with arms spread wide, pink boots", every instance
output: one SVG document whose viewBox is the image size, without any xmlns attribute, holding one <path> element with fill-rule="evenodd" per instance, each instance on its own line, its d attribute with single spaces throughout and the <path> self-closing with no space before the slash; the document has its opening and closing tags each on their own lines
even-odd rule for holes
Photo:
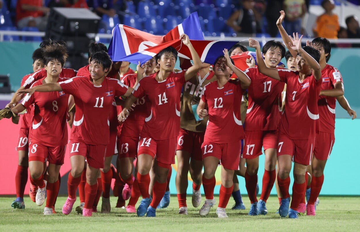
<svg viewBox="0 0 360 232">
<path fill-rule="evenodd" d="M 92 215 L 92 206 L 98 189 L 98 172 L 104 167 L 104 157 L 109 143 L 109 112 L 114 96 L 130 96 L 132 88 L 120 80 L 106 78 L 111 66 L 109 55 L 102 51 L 90 59 L 90 78 L 77 76 L 60 83 L 48 83 L 21 92 L 34 93 L 63 91 L 75 99 L 75 120 L 69 141 L 71 172 L 68 177 L 69 196 L 62 212 L 69 214 L 76 200 L 76 189 L 81 180 L 85 159 L 86 169 L 85 205 L 83 216 Z"/>
</svg>

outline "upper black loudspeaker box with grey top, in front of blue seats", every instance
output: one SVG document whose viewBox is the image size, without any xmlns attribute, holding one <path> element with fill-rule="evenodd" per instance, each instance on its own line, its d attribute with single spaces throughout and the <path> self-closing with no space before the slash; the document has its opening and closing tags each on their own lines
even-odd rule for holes
<svg viewBox="0 0 360 232">
<path fill-rule="evenodd" d="M 54 7 L 50 10 L 46 37 L 49 31 L 67 35 L 85 35 L 98 33 L 101 18 L 85 8 Z"/>
</svg>

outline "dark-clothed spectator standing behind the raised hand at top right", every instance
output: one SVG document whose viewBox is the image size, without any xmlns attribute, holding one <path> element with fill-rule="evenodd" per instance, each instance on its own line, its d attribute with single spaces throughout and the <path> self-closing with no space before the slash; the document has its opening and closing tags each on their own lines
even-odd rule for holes
<svg viewBox="0 0 360 232">
<path fill-rule="evenodd" d="M 278 27 L 276 26 L 276 21 L 279 18 L 280 10 L 283 9 L 283 0 L 267 0 L 266 4 L 266 20 L 268 33 L 271 37 L 276 37 L 279 33 Z"/>
</svg>

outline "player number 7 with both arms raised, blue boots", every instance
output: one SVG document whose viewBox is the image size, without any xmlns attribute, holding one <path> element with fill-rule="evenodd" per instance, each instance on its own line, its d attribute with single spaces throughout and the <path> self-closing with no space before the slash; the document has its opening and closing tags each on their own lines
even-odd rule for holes
<svg viewBox="0 0 360 232">
<path fill-rule="evenodd" d="M 260 59 L 260 44 L 249 38 L 249 45 L 256 48 L 258 69 L 262 74 L 287 84 L 285 111 L 280 120 L 277 156 L 279 163 L 278 184 L 283 199 L 279 208 L 281 217 L 298 218 L 297 208 L 306 187 L 306 167 L 311 162 L 315 134 L 319 131 L 318 98 L 321 88 L 320 53 L 312 47 L 301 47 L 301 38 L 294 34 L 291 48 L 298 52 L 296 72 L 289 69 L 271 69 Z M 294 161 L 294 184 L 289 210 L 289 172 Z"/>
</svg>

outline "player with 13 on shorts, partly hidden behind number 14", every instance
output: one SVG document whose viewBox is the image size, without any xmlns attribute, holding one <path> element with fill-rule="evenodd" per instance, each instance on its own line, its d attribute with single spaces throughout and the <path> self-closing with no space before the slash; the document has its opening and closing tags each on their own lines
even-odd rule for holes
<svg viewBox="0 0 360 232">
<path fill-rule="evenodd" d="M 137 83 L 144 76 L 153 74 L 153 70 L 156 66 L 156 57 L 151 58 L 145 62 L 142 66 L 137 66 L 137 74 L 128 74 L 122 79 L 123 83 L 135 88 Z M 145 118 L 148 116 L 148 101 L 147 97 L 144 96 L 141 99 L 137 99 L 135 102 L 134 111 L 131 112 L 129 117 L 123 122 L 121 127 L 121 136 L 119 139 L 119 161 L 120 161 L 120 177 L 125 183 L 124 189 L 122 190 L 122 197 L 124 200 L 130 198 L 132 192 L 132 185 L 135 184 L 136 192 L 138 192 L 138 181 L 132 175 L 133 162 L 137 156 L 139 135 L 143 129 Z M 135 171 L 136 173 L 136 171 Z M 135 204 L 138 198 L 129 200 L 129 204 L 126 207 L 128 213 L 135 213 Z"/>
</svg>

